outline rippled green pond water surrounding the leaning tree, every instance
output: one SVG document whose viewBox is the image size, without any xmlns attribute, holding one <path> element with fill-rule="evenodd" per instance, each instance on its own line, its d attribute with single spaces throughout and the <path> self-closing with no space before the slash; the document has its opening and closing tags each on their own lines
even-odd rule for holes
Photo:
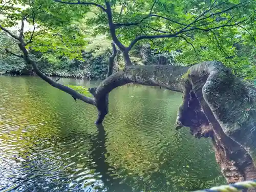
<svg viewBox="0 0 256 192">
<path fill-rule="evenodd" d="M 119 87 L 98 126 L 94 106 L 38 77 L 0 76 L 0 98 L 0 191 L 165 192 L 225 184 L 210 140 L 175 130 L 180 93 Z"/>
</svg>

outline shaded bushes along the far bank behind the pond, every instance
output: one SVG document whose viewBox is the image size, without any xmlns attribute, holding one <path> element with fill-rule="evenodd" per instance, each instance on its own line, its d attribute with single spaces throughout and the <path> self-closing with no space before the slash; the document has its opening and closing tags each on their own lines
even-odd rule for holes
<svg viewBox="0 0 256 192">
<path fill-rule="evenodd" d="M 82 50 L 81 58 L 70 59 L 63 55 L 56 57 L 50 51 L 46 54 L 30 50 L 31 55 L 38 61 L 38 67 L 48 76 L 75 77 L 88 79 L 104 79 L 108 71 L 109 57 L 111 55 L 111 41 L 106 36 L 91 37 L 91 43 Z M 12 39 L 4 32 L 0 35 L 0 44 L 12 45 Z M 152 50 L 149 44 L 138 45 L 131 53 L 135 65 L 174 65 L 177 52 L 160 53 Z M 124 67 L 123 58 L 118 52 L 115 58 L 114 71 Z M 34 75 L 32 67 L 29 68 L 22 58 L 0 52 L 0 74 L 2 75 Z"/>
</svg>

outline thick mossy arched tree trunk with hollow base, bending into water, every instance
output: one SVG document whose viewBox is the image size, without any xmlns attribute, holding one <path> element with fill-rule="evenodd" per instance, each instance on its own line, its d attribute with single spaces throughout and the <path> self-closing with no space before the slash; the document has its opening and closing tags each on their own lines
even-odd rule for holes
<svg viewBox="0 0 256 192">
<path fill-rule="evenodd" d="M 256 89 L 241 82 L 221 62 L 190 68 L 129 66 L 91 90 L 106 115 L 105 95 L 126 83 L 161 86 L 183 93 L 176 127 L 189 127 L 197 138 L 210 138 L 216 160 L 228 183 L 256 179 Z"/>
</svg>

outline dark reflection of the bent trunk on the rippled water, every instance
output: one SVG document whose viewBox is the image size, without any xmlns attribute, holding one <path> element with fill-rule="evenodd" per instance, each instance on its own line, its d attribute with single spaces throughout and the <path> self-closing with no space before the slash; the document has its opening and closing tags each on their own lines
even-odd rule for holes
<svg viewBox="0 0 256 192">
<path fill-rule="evenodd" d="M 101 180 L 104 183 L 104 186 L 109 189 L 109 191 L 133 191 L 131 187 L 124 183 L 120 183 L 121 179 L 114 178 L 114 173 L 112 170 L 115 168 L 110 166 L 106 162 L 106 132 L 102 124 L 97 125 L 98 133 L 95 136 L 91 137 L 92 147 L 90 159 L 95 163 L 96 172 L 101 174 Z"/>
</svg>

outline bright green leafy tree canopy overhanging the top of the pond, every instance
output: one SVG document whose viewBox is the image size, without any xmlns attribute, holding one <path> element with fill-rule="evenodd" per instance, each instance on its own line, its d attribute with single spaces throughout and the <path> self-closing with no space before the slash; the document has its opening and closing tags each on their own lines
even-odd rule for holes
<svg viewBox="0 0 256 192">
<path fill-rule="evenodd" d="M 2 2 L 0 24 L 20 28 L 24 19 L 26 48 L 53 63 L 63 56 L 83 60 L 93 37 L 103 35 L 121 51 L 149 44 L 157 52 L 176 52 L 183 65 L 219 60 L 253 78 L 254 7 L 255 1 L 11 0 Z M 99 46 L 106 50 L 107 44 Z"/>
</svg>

